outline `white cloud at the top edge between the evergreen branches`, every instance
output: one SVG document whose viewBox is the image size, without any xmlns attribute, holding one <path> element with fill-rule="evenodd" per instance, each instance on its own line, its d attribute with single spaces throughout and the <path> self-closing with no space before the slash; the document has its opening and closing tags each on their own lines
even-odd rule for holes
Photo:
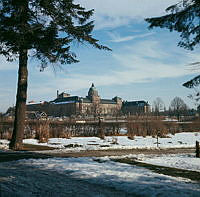
<svg viewBox="0 0 200 197">
<path fill-rule="evenodd" d="M 133 20 L 165 14 L 165 9 L 178 0 L 77 0 L 88 9 L 95 9 L 95 28 L 119 27 Z"/>
</svg>

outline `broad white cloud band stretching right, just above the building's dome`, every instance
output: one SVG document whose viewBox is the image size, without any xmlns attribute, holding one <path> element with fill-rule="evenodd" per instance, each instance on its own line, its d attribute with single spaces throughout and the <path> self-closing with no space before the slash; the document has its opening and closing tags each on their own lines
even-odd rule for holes
<svg viewBox="0 0 200 197">
<path fill-rule="evenodd" d="M 176 78 L 195 73 L 187 70 L 185 62 L 193 61 L 196 56 L 190 53 L 180 52 L 178 56 L 167 53 L 156 41 L 140 41 L 132 46 L 126 47 L 122 53 L 114 53 L 113 59 L 118 62 L 118 70 L 104 74 L 69 74 L 67 78 L 58 77 L 48 81 L 42 90 L 43 94 L 54 92 L 56 89 L 78 91 L 88 88 L 91 82 L 97 86 L 128 85 L 130 83 L 152 82 L 161 78 Z M 184 57 L 185 55 L 185 57 Z M 177 58 L 180 63 L 169 63 L 166 59 Z M 179 59 L 178 59 L 179 58 Z M 103 68 L 102 68 L 103 69 Z M 52 74 L 53 75 L 53 74 Z M 38 87 L 33 90 L 38 94 Z M 39 92 L 40 94 L 40 92 Z"/>
</svg>

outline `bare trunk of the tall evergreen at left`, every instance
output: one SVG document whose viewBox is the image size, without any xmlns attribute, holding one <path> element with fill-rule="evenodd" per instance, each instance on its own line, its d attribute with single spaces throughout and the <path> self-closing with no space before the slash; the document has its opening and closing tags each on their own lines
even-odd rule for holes
<svg viewBox="0 0 200 197">
<path fill-rule="evenodd" d="M 23 137 L 25 128 L 26 98 L 27 98 L 27 79 L 28 79 L 28 50 L 20 49 L 19 52 L 19 71 L 18 86 L 15 106 L 15 121 L 12 139 L 9 144 L 10 149 L 23 149 Z"/>
</svg>

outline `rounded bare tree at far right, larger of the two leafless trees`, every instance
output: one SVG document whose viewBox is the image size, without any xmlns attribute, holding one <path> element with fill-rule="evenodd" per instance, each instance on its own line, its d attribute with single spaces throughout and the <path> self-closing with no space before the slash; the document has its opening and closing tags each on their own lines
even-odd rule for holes
<svg viewBox="0 0 200 197">
<path fill-rule="evenodd" d="M 180 97 L 175 97 L 170 103 L 170 111 L 180 120 L 180 116 L 184 115 L 188 107 Z"/>
</svg>

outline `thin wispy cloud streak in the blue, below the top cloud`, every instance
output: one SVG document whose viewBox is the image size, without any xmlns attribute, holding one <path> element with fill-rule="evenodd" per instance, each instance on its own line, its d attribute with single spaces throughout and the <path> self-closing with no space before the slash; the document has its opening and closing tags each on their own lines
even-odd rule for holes
<svg viewBox="0 0 200 197">
<path fill-rule="evenodd" d="M 146 33 L 146 34 L 138 34 L 138 35 L 133 35 L 133 36 L 120 36 L 118 33 L 113 33 L 113 32 L 108 32 L 108 35 L 111 37 L 111 42 L 126 42 L 130 40 L 134 40 L 137 38 L 145 38 L 147 36 L 152 35 L 153 33 Z"/>
</svg>

